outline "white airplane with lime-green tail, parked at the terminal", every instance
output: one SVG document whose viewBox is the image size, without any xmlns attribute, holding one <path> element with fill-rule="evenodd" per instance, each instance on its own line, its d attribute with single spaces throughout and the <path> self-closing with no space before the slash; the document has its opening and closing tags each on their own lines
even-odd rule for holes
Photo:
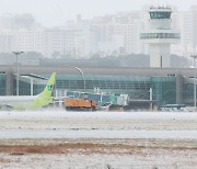
<svg viewBox="0 0 197 169">
<path fill-rule="evenodd" d="M 53 102 L 56 72 L 53 72 L 44 91 L 37 95 L 0 97 L 0 110 L 36 110 Z"/>
</svg>

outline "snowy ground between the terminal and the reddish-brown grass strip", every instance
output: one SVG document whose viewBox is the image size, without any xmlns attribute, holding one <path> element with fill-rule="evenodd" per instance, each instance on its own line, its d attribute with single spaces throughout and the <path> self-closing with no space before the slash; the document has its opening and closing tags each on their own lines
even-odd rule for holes
<svg viewBox="0 0 197 169">
<path fill-rule="evenodd" d="M 0 112 L 0 138 L 197 138 L 197 113 Z"/>
</svg>

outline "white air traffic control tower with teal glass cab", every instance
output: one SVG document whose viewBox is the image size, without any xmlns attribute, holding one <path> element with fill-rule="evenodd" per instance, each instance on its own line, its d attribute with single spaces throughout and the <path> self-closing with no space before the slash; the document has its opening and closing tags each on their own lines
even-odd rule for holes
<svg viewBox="0 0 197 169">
<path fill-rule="evenodd" d="M 172 9 L 151 7 L 149 30 L 141 32 L 140 40 L 149 44 L 150 67 L 171 67 L 171 44 L 179 42 L 181 34 L 172 29 Z"/>
</svg>

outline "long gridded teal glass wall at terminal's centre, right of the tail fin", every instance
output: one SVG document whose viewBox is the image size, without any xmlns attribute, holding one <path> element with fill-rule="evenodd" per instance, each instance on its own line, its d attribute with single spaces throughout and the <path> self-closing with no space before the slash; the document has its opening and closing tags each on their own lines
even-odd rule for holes
<svg viewBox="0 0 197 169">
<path fill-rule="evenodd" d="M 84 79 L 84 80 L 83 80 Z M 130 99 L 149 99 L 150 78 L 128 76 L 57 76 L 57 89 L 72 91 L 101 92 L 129 94 Z"/>
</svg>

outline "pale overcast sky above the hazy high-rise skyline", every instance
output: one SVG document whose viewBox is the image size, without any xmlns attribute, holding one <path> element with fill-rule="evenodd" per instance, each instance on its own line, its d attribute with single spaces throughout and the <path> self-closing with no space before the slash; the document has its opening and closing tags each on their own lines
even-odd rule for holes
<svg viewBox="0 0 197 169">
<path fill-rule="evenodd" d="M 197 0 L 0 0 L 0 14 L 32 13 L 43 25 L 55 26 L 76 19 L 77 14 L 91 19 L 118 11 L 139 11 L 146 4 L 158 3 L 176 5 L 183 11 L 197 5 Z"/>
</svg>

